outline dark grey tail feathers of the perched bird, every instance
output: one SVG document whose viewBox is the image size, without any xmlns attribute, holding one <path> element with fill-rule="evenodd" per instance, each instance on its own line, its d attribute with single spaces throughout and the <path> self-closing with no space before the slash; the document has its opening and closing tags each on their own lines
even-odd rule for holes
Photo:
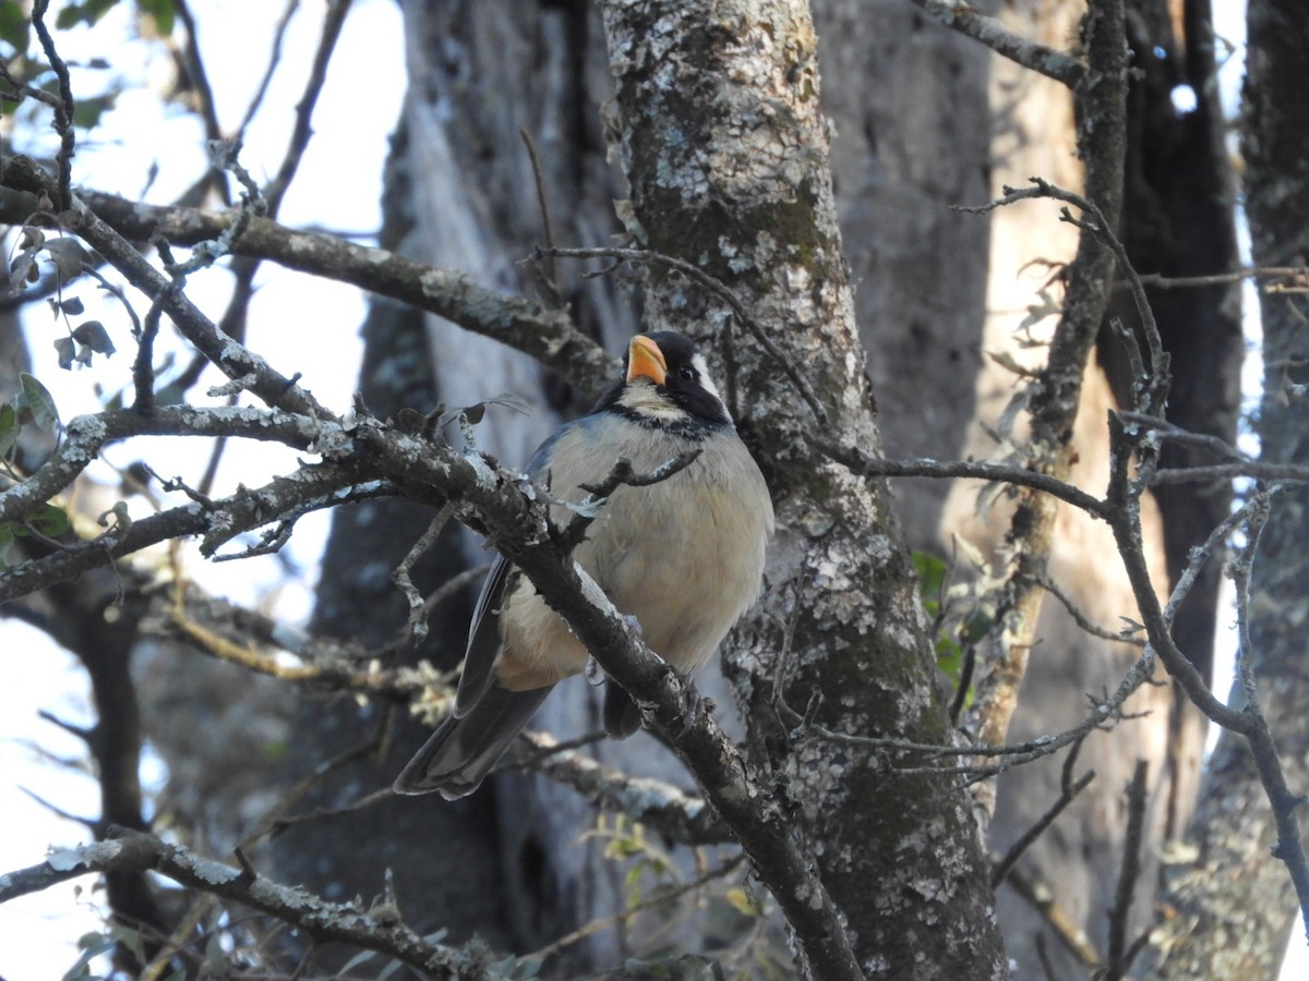
<svg viewBox="0 0 1309 981">
<path fill-rule="evenodd" d="M 492 684 L 463 718 L 450 715 L 395 778 L 397 794 L 467 797 L 509 748 L 554 685 L 511 692 Z"/>
</svg>

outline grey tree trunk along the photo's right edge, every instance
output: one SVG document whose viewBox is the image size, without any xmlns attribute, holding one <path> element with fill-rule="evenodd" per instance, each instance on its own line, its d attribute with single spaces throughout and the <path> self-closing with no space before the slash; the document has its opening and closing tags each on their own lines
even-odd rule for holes
<svg viewBox="0 0 1309 981">
<path fill-rule="evenodd" d="M 1255 266 L 1302 263 L 1309 233 L 1302 203 L 1309 181 L 1309 27 L 1300 4 L 1251 0 L 1249 75 L 1242 149 Z M 1264 395 L 1258 432 L 1262 459 L 1309 460 L 1309 411 L 1295 385 L 1309 381 L 1304 305 L 1263 292 Z M 1299 307 L 1299 309 L 1297 309 Z M 1274 498 L 1254 559 L 1250 634 L 1259 704 L 1278 738 L 1287 778 L 1309 786 L 1309 684 L 1304 662 L 1309 553 L 1304 547 L 1309 496 L 1304 488 Z M 1234 689 L 1234 693 L 1240 689 Z M 1187 829 L 1194 861 L 1166 870 L 1170 913 L 1152 938 L 1143 977 L 1276 977 L 1296 912 L 1266 794 L 1245 740 L 1224 734 L 1204 774 L 1199 807 Z"/>
</svg>

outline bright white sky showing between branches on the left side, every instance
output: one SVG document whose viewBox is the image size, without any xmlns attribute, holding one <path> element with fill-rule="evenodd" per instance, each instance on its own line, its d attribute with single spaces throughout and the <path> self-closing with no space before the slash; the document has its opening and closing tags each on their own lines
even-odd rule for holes
<svg viewBox="0 0 1309 981">
<path fill-rule="evenodd" d="M 263 75 L 271 52 L 272 26 L 284 4 L 192 0 L 191 7 L 213 81 L 219 119 L 225 128 L 234 128 Z M 281 161 L 292 112 L 318 43 L 325 4 L 309 0 L 300 7 L 287 33 L 281 67 L 266 107 L 249 131 L 241 156 L 242 164 L 259 181 L 274 174 Z M 119 4 L 94 31 L 62 33 L 56 38 L 60 54 L 69 61 L 85 61 L 113 51 L 114 69 L 135 72 L 143 81 L 165 71 L 165 59 L 157 50 L 132 39 L 132 4 Z M 234 9 L 240 9 L 240 17 L 233 16 Z M 117 42 L 106 43 L 115 35 Z M 281 208 L 283 222 L 343 232 L 378 228 L 380 175 L 404 92 L 403 52 L 397 4 L 355 0 L 314 116 L 314 139 Z M 80 72 L 73 85 L 75 95 L 88 94 L 99 85 L 98 76 Z M 149 132 L 152 139 L 143 141 L 143 132 Z M 158 160 L 160 173 L 149 199 L 169 203 L 200 173 L 202 137 L 194 118 L 177 107 L 161 106 L 153 92 L 132 93 L 105 118 L 94 141 L 79 146 L 75 179 L 88 187 L 135 198 L 154 162 L 145 154 L 164 150 L 169 156 Z M 228 284 L 225 272 L 202 273 L 192 279 L 188 294 L 217 317 L 225 305 Z M 258 284 L 259 292 L 251 303 L 250 343 L 284 373 L 304 371 L 304 385 L 327 405 L 339 411 L 348 408 L 357 373 L 357 331 L 364 317 L 359 292 L 271 266 L 264 266 Z M 90 300 L 90 289 L 80 293 Z M 109 361 L 97 357 L 92 369 L 72 373 L 56 365 L 51 344 L 59 331 L 45 311 L 27 318 L 34 373 L 52 390 L 64 420 L 98 408 L 93 383 L 114 391 L 130 382 L 132 353 L 122 311 L 107 309 L 103 315 L 92 315 L 99 317 L 115 334 L 118 354 Z M 315 352 L 330 352 L 330 356 L 314 356 Z M 216 374 L 213 381 L 219 381 Z M 200 390 L 204 387 L 202 383 Z M 186 475 L 194 483 L 209 449 L 209 442 L 202 439 L 158 441 L 153 447 L 134 443 L 130 453 L 119 451 L 110 458 L 117 463 L 144 458 L 164 476 Z M 236 455 L 228 455 L 220 479 L 229 485 L 238 477 L 246 484 L 258 484 L 271 476 L 284 458 L 262 443 L 247 445 L 242 447 L 240 463 L 234 463 Z M 101 472 L 111 479 L 107 470 Z M 292 556 L 305 574 L 298 587 L 293 583 L 281 594 L 279 615 L 295 619 L 308 613 L 314 561 L 325 530 L 326 515 L 301 522 L 297 528 Z M 285 577 L 284 568 L 275 560 L 223 565 L 196 561 L 194 565 L 211 589 L 241 600 L 254 599 L 266 585 Z M 42 753 L 72 760 L 85 756 L 80 740 L 38 717 L 39 710 L 47 710 L 76 725 L 93 723 L 85 672 L 42 633 L 13 620 L 0 620 L 0 655 L 5 658 L 9 679 L 0 685 L 0 772 L 5 774 L 0 781 L 0 814 L 5 816 L 0 871 L 9 871 L 35 865 L 52 845 L 90 840 L 82 825 L 54 818 L 25 791 L 69 814 L 90 818 L 97 816 L 99 802 L 89 774 L 51 766 L 42 759 Z M 16 670 L 20 664 L 21 670 Z M 152 772 L 157 780 L 158 763 L 147 759 L 147 780 Z M 46 981 L 72 967 L 77 959 L 73 946 L 77 937 L 99 930 L 96 913 L 88 908 L 92 897 L 85 892 L 93 883 L 94 879 L 86 876 L 76 884 L 0 905 L 0 978 Z M 71 916 L 72 910 L 77 912 Z"/>
</svg>

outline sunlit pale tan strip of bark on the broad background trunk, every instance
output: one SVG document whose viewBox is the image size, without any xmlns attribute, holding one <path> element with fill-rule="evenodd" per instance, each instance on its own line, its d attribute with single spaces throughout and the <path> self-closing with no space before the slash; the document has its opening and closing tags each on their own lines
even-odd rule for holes
<svg viewBox="0 0 1309 981">
<path fill-rule="evenodd" d="M 1050 44 L 1059 44 L 1076 31 L 1080 4 L 1007 4 L 1005 22 L 1016 31 Z M 1021 187 L 1033 174 L 1064 187 L 1080 188 L 1081 165 L 1075 156 L 1075 122 L 1071 93 L 1001 59 L 992 61 L 991 105 L 992 194 L 1003 186 Z M 1041 305 L 1037 290 L 1050 276 L 1045 264 L 1071 262 L 1076 230 L 1056 221 L 1058 209 L 1047 201 L 1024 201 L 992 213 L 991 280 L 986 309 L 988 318 L 982 347 L 1005 352 L 1018 364 L 1043 364 L 1047 349 L 1025 343 L 1029 332 L 1018 330 L 1028 307 Z M 1056 288 L 1058 289 L 1058 288 Z M 1030 335 L 1049 340 L 1054 318 L 1037 323 Z M 977 377 L 978 422 L 966 455 L 987 459 L 1012 451 L 1028 438 L 1025 429 L 1011 436 L 1013 443 L 997 445 L 992 436 L 1018 391 L 1021 379 L 988 360 Z M 1083 379 L 1081 404 L 1072 438 L 1077 462 L 1068 479 L 1092 493 L 1105 488 L 1109 441 L 1105 412 L 1111 396 L 1102 374 L 1089 368 Z M 946 534 L 958 534 L 988 555 L 1000 557 L 1007 528 L 1005 511 L 978 511 L 977 483 L 957 485 L 945 519 Z M 1157 545 L 1156 545 L 1157 548 Z M 1085 616 L 1111 625 L 1134 608 L 1131 590 L 1121 570 L 1109 562 L 1088 562 L 1086 553 L 1113 555 L 1113 539 L 1101 522 L 1060 505 L 1047 573 L 1071 595 Z M 1157 556 L 1157 552 L 1156 552 Z M 1156 559 L 1156 568 L 1162 565 Z M 1031 739 L 1060 731 L 1085 713 L 1086 695 L 1114 688 L 1136 651 L 1084 633 L 1062 606 L 1046 602 L 1037 624 L 1037 646 L 1022 679 L 1009 738 Z M 1136 702 L 1149 702 L 1155 689 L 1141 692 Z M 1162 702 L 1166 705 L 1166 702 Z M 1158 706 L 1156 706 L 1158 708 Z M 1122 791 L 1136 755 L 1145 747 L 1158 760 L 1158 740 L 1143 738 L 1140 722 L 1114 732 L 1096 732 L 1080 753 L 1079 773 L 1096 770 L 1097 780 L 1059 820 L 1037 840 L 1020 862 L 1017 874 L 1049 888 L 1058 908 L 1077 929 L 1101 943 L 1103 910 L 1113 896 L 1114 867 L 1109 855 L 1122 842 Z M 1153 743 L 1153 746 L 1152 746 Z M 1007 773 L 996 789 L 996 812 L 990 842 L 1004 854 L 1059 798 L 1062 759 L 1047 759 Z M 1151 774 L 1152 777 L 1156 773 Z M 1077 977 L 1085 968 L 1069 959 L 1052 938 L 1042 914 L 1011 882 L 996 893 L 1005 944 L 1016 964 L 1016 977 L 1039 977 L 1038 944 L 1050 951 L 1058 977 Z"/>
</svg>

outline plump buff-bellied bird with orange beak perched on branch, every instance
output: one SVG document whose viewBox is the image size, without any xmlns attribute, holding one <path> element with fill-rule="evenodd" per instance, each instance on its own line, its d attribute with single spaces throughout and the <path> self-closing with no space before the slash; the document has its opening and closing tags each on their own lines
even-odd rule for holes
<svg viewBox="0 0 1309 981">
<path fill-rule="evenodd" d="M 690 675 L 713 655 L 758 598 L 774 530 L 772 500 L 709 378 L 704 356 L 673 331 L 637 334 L 623 374 L 592 412 L 556 430 L 528 464 L 554 496 L 551 517 L 585 500 L 619 460 L 649 473 L 699 454 L 665 480 L 620 485 L 573 549 L 614 607 L 635 617 L 647 646 Z M 395 780 L 399 794 L 467 797 L 528 725 L 556 683 L 589 654 L 504 556 L 474 607 L 450 715 Z M 605 681 L 605 731 L 641 725 L 623 688 Z"/>
</svg>

